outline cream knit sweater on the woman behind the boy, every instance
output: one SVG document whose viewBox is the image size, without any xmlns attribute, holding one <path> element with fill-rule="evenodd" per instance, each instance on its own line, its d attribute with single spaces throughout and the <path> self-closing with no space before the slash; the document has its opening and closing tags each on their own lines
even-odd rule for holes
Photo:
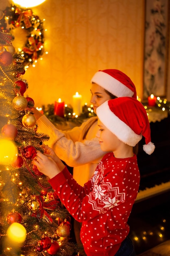
<svg viewBox="0 0 170 256">
<path fill-rule="evenodd" d="M 101 150 L 96 138 L 97 117 L 91 117 L 81 126 L 68 131 L 58 130 L 45 116 L 40 117 L 37 124 L 37 132 L 50 136 L 46 144 L 68 166 L 74 167 L 73 177 L 83 186 L 92 177 L 98 163 L 106 154 Z"/>
</svg>

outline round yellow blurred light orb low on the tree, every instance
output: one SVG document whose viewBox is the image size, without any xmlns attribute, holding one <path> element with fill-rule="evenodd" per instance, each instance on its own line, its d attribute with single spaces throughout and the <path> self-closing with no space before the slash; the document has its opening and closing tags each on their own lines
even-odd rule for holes
<svg viewBox="0 0 170 256">
<path fill-rule="evenodd" d="M 7 229 L 7 236 L 11 243 L 24 243 L 26 239 L 26 229 L 20 223 L 14 222 Z"/>
</svg>

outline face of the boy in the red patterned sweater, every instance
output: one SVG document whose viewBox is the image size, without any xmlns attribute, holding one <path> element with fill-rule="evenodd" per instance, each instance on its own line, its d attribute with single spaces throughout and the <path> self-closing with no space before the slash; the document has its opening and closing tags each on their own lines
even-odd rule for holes
<svg viewBox="0 0 170 256">
<path fill-rule="evenodd" d="M 122 144 L 122 141 L 116 137 L 109 129 L 107 129 L 104 124 L 98 119 L 98 127 L 99 130 L 96 134 L 96 137 L 98 138 L 100 147 L 103 151 L 113 151 L 115 152 L 120 148 L 120 145 Z"/>
</svg>

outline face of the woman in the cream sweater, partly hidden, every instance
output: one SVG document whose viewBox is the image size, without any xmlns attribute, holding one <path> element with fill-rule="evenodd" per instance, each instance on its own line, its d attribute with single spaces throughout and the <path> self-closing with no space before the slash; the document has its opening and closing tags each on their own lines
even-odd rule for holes
<svg viewBox="0 0 170 256">
<path fill-rule="evenodd" d="M 92 83 L 90 91 L 92 93 L 90 102 L 93 104 L 94 113 L 96 114 L 96 108 L 98 108 L 102 103 L 108 101 L 111 98 L 109 94 L 105 92 L 105 89 L 96 83 Z"/>
</svg>

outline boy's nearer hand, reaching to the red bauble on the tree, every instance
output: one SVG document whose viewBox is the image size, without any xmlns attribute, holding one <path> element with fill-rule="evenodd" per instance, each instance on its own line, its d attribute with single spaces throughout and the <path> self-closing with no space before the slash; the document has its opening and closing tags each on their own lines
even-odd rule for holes
<svg viewBox="0 0 170 256">
<path fill-rule="evenodd" d="M 40 151 L 37 151 L 37 155 L 33 159 L 33 164 L 37 166 L 38 170 L 41 173 L 44 173 L 45 175 L 50 177 L 50 179 L 63 170 L 61 166 L 58 166 L 51 157 L 42 154 Z"/>
</svg>

